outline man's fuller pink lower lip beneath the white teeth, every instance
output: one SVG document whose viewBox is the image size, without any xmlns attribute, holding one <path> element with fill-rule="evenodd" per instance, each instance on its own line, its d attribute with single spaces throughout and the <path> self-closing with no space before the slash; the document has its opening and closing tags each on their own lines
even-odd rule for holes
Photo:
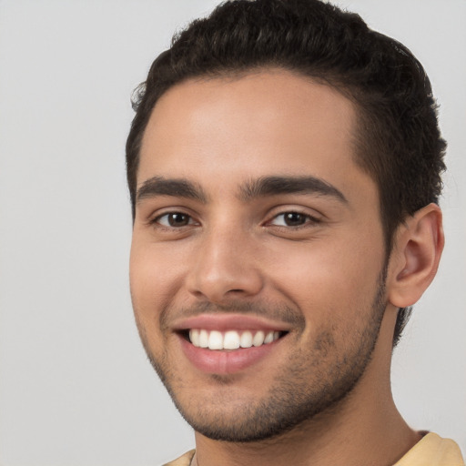
<svg viewBox="0 0 466 466">
<path fill-rule="evenodd" d="M 263 360 L 275 349 L 280 339 L 258 347 L 218 350 L 195 347 L 179 336 L 181 348 L 193 366 L 210 374 L 233 374 Z"/>
</svg>

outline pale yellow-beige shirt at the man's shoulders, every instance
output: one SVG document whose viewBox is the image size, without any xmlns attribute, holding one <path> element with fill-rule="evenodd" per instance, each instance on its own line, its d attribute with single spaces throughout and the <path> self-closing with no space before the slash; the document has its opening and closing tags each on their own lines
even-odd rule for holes
<svg viewBox="0 0 466 466">
<path fill-rule="evenodd" d="M 164 466 L 189 466 L 194 450 L 187 451 L 175 461 Z M 465 466 L 460 447 L 450 439 L 428 433 L 393 466 Z"/>
</svg>

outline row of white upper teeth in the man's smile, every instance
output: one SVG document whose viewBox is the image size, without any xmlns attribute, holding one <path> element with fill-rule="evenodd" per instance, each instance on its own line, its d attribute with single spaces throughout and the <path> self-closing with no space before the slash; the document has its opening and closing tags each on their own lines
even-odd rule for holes
<svg viewBox="0 0 466 466">
<path fill-rule="evenodd" d="M 212 350 L 248 349 L 273 343 L 285 336 L 279 330 L 208 330 L 189 329 L 181 332 L 196 348 Z"/>
</svg>

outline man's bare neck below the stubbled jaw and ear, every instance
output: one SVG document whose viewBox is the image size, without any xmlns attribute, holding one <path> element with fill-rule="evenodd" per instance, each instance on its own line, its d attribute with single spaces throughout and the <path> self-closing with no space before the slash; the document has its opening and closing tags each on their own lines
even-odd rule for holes
<svg viewBox="0 0 466 466">
<path fill-rule="evenodd" d="M 390 316 L 389 316 L 390 318 Z M 389 319 L 388 318 L 388 319 Z M 385 318 L 384 318 L 385 320 Z M 401 418 L 390 390 L 391 339 L 383 336 L 349 395 L 325 412 L 267 441 L 213 441 L 196 433 L 197 466 L 390 466 L 420 441 Z M 389 327 L 390 328 L 390 327 Z M 392 327 L 391 327 L 392 328 Z"/>
</svg>

